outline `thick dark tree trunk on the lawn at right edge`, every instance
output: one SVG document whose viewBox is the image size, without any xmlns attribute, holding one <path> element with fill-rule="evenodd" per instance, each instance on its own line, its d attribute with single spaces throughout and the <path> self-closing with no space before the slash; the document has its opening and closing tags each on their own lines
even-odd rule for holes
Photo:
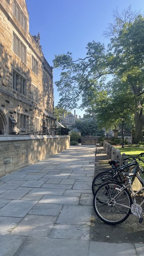
<svg viewBox="0 0 144 256">
<path fill-rule="evenodd" d="M 135 139 L 134 143 L 138 143 L 143 140 L 143 126 L 144 118 L 139 112 L 135 111 Z"/>
</svg>

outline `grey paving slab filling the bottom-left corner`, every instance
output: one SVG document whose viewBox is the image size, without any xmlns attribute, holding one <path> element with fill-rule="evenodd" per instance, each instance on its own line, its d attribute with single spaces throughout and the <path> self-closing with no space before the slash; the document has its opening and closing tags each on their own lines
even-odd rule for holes
<svg viewBox="0 0 144 256">
<path fill-rule="evenodd" d="M 25 237 L 21 236 L 0 235 L 0 255 L 14 256 L 25 239 Z"/>
</svg>

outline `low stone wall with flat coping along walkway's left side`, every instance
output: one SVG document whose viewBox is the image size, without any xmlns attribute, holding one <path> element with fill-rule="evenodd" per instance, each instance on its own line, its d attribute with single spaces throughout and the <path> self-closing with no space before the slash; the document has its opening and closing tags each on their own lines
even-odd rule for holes
<svg viewBox="0 0 144 256">
<path fill-rule="evenodd" d="M 70 136 L 1 135 L 0 177 L 70 147 Z"/>
</svg>

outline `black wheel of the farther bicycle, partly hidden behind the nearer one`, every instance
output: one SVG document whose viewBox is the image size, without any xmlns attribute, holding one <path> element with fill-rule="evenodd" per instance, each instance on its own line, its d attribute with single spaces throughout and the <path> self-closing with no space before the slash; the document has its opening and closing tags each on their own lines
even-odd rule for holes
<svg viewBox="0 0 144 256">
<path fill-rule="evenodd" d="M 113 174 L 109 173 L 107 171 L 101 172 L 97 176 L 95 176 L 95 178 L 94 178 L 94 180 L 92 182 L 92 192 L 93 192 L 93 195 L 95 194 L 96 190 L 102 184 L 105 184 L 107 182 L 111 182 L 112 179 L 113 179 Z M 117 181 L 117 178 L 115 178 L 114 181 Z"/>
</svg>

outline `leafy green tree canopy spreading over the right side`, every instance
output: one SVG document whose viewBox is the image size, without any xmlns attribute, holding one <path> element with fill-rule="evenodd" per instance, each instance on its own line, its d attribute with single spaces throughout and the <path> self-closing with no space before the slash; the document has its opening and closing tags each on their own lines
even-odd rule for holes
<svg viewBox="0 0 144 256">
<path fill-rule="evenodd" d="M 73 60 L 72 54 L 55 56 L 54 67 L 62 69 L 59 106 L 77 107 L 96 115 L 101 127 L 119 123 L 125 115 L 135 123 L 135 142 L 142 140 L 144 127 L 144 17 L 131 7 L 119 15 L 104 33 L 110 37 L 105 49 L 100 42 L 87 44 L 87 56 Z"/>
</svg>

